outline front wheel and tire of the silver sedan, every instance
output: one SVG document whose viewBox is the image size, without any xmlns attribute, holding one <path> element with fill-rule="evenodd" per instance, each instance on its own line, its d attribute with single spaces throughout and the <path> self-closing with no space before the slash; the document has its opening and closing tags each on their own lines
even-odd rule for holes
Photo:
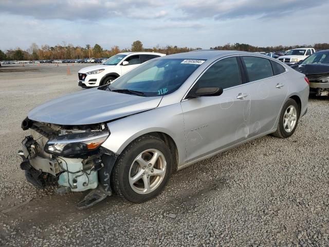
<svg viewBox="0 0 329 247">
<path fill-rule="evenodd" d="M 153 162 L 155 152 L 158 156 Z M 137 157 L 141 158 L 136 161 Z M 150 166 L 151 163 L 154 166 Z M 121 153 L 115 164 L 112 173 L 114 191 L 133 203 L 151 200 L 166 187 L 172 170 L 172 155 L 163 140 L 151 135 L 141 136 Z M 145 187 L 144 181 L 149 181 L 150 186 Z"/>
</svg>

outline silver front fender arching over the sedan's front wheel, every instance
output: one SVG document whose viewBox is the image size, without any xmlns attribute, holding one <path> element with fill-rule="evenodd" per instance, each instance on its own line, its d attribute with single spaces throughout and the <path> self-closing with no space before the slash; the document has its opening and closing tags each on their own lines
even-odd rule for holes
<svg viewBox="0 0 329 247">
<path fill-rule="evenodd" d="M 175 142 L 178 165 L 186 161 L 184 118 L 180 103 L 158 107 L 107 123 L 111 132 L 102 146 L 120 154 L 134 139 L 151 132 L 162 132 Z"/>
</svg>

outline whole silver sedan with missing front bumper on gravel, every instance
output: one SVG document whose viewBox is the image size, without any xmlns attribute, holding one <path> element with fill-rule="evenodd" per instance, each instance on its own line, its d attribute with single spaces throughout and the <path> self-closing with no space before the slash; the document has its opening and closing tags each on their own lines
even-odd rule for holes
<svg viewBox="0 0 329 247">
<path fill-rule="evenodd" d="M 21 168 L 36 187 L 157 196 L 175 170 L 249 140 L 291 136 L 307 78 L 268 56 L 197 50 L 150 60 L 111 84 L 46 102 L 22 122 Z"/>
</svg>

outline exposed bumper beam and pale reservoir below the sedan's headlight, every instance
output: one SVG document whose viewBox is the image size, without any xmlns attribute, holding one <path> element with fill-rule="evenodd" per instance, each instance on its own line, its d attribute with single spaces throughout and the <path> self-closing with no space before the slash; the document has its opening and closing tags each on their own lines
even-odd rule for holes
<svg viewBox="0 0 329 247">
<path fill-rule="evenodd" d="M 86 169 L 82 158 L 56 157 L 42 151 L 40 143 L 27 136 L 19 151 L 26 179 L 38 188 L 58 184 L 68 191 L 84 191 L 98 186 L 98 171 Z"/>
</svg>

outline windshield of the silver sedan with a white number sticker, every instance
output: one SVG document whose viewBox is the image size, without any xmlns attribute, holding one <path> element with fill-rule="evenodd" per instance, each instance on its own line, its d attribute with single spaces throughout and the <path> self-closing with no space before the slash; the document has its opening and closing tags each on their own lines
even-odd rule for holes
<svg viewBox="0 0 329 247">
<path fill-rule="evenodd" d="M 144 97 L 162 96 L 176 91 L 205 60 L 150 60 L 116 79 L 102 90 L 138 91 Z"/>
</svg>

